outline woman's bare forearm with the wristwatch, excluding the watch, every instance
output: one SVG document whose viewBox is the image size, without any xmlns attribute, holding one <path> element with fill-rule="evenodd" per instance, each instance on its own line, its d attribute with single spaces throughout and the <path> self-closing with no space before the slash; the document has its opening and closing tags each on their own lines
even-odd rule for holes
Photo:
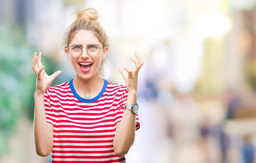
<svg viewBox="0 0 256 163">
<path fill-rule="evenodd" d="M 129 92 L 126 104 L 134 104 L 137 101 L 137 93 Z M 125 109 L 121 122 L 116 125 L 116 134 L 113 140 L 114 151 L 118 155 L 128 153 L 135 137 L 136 114 Z"/>
</svg>

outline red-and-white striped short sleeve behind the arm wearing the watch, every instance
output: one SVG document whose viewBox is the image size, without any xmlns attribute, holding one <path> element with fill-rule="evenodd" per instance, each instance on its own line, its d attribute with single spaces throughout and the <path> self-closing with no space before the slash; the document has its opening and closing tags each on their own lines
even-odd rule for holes
<svg viewBox="0 0 256 163">
<path fill-rule="evenodd" d="M 125 91 L 123 92 L 122 96 L 121 96 L 121 99 L 119 101 L 119 104 L 116 108 L 116 123 L 120 122 L 122 120 L 122 115 L 124 113 L 124 107 L 125 107 L 125 104 L 126 104 L 126 100 L 127 100 L 127 97 L 128 97 L 128 91 L 127 89 L 125 89 Z M 136 114 L 136 130 L 140 129 L 140 120 L 139 120 L 139 116 L 138 114 Z"/>
</svg>

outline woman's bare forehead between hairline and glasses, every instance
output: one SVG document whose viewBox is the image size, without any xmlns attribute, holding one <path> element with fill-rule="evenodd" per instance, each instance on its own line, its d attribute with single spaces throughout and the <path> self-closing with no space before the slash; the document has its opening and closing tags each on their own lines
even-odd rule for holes
<svg viewBox="0 0 256 163">
<path fill-rule="evenodd" d="M 89 43 L 97 43 L 100 45 L 101 43 L 99 42 L 98 38 L 94 35 L 93 31 L 85 31 L 85 30 L 80 30 L 78 31 L 73 39 L 70 41 L 70 45 L 72 44 L 89 44 Z"/>
</svg>

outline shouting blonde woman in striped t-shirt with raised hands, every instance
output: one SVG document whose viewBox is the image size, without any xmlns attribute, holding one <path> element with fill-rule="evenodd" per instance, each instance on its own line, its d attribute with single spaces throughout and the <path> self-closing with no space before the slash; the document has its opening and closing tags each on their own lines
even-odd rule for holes
<svg viewBox="0 0 256 163">
<path fill-rule="evenodd" d="M 65 39 L 65 54 L 76 71 L 69 82 L 50 86 L 61 74 L 48 75 L 35 52 L 35 149 L 52 154 L 52 163 L 125 163 L 134 142 L 138 119 L 137 77 L 143 65 L 135 51 L 135 66 L 118 68 L 126 86 L 101 78 L 108 53 L 108 37 L 89 8 L 77 13 Z"/>
</svg>

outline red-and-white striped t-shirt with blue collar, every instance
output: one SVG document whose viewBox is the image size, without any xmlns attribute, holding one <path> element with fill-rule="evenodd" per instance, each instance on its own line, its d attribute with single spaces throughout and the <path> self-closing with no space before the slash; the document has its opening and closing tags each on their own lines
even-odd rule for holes
<svg viewBox="0 0 256 163">
<path fill-rule="evenodd" d="M 114 153 L 113 138 L 127 96 L 126 86 L 107 80 L 92 99 L 80 97 L 73 80 L 49 87 L 44 106 L 47 122 L 54 126 L 52 163 L 125 163 L 125 156 Z"/>
</svg>

